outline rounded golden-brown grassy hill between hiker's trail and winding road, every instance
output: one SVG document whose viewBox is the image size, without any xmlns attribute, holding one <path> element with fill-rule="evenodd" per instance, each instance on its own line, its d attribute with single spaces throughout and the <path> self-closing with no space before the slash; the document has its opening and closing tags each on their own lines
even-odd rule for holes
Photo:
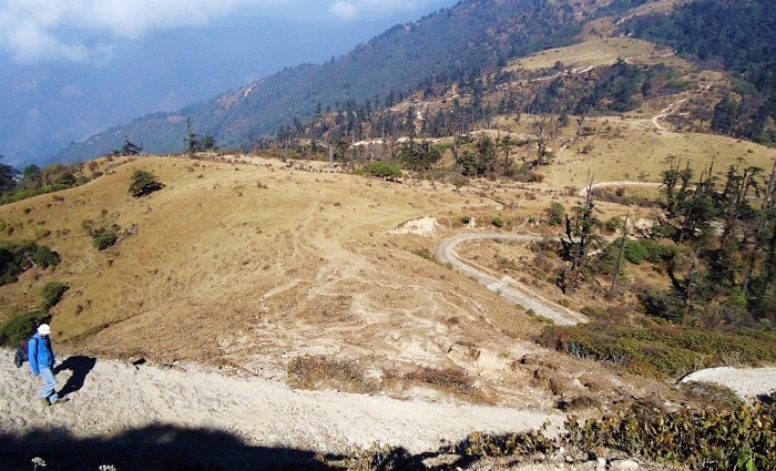
<svg viewBox="0 0 776 471">
<path fill-rule="evenodd" d="M 357 371 L 367 391 L 447 391 L 487 403 L 552 407 L 588 397 L 581 403 L 606 409 L 644 393 L 636 378 L 539 348 L 532 338 L 542 320 L 423 257 L 461 231 L 463 215 L 500 214 L 517 225 L 540 214 L 547 190 L 532 188 L 541 198 L 523 201 L 529 190 L 508 183 L 456 192 L 257 157 L 111 165 L 82 187 L 0 207 L 13 227 L 3 238 L 34 238 L 44 226 L 51 235 L 39 243 L 62 255 L 55 269 L 30 270 L 1 288 L 2 320 L 57 280 L 70 290 L 53 309 L 54 334 L 62 348 L 81 354 L 204 361 L 275 378 L 285 378 L 296 358 L 324 358 L 297 362 L 312 376 L 303 382 L 357 362 L 343 381 Z M 131 175 L 140 168 L 164 190 L 132 198 Z M 513 207 L 504 207 L 510 197 Z M 391 233 L 425 216 L 440 222 L 433 232 Z M 136 233 L 100 252 L 84 219 Z M 676 393 L 654 387 L 657 397 Z"/>
</svg>

